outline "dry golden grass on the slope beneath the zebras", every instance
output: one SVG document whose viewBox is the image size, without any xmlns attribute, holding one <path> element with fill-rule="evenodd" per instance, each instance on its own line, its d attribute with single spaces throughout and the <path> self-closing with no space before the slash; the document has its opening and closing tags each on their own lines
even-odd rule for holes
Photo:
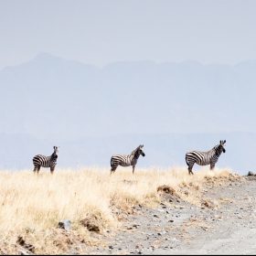
<svg viewBox="0 0 256 256">
<path fill-rule="evenodd" d="M 157 187 L 175 189 L 180 198 L 200 204 L 200 189 L 206 183 L 225 180 L 229 169 L 202 169 L 188 176 L 187 168 L 136 169 L 119 167 L 110 176 L 109 169 L 82 168 L 56 170 L 50 175 L 42 169 L 0 172 L 0 253 L 16 253 L 17 237 L 33 244 L 37 253 L 69 252 L 80 243 L 93 242 L 89 230 L 80 225 L 82 219 L 94 218 L 100 229 L 115 228 L 135 205 L 154 207 L 160 202 Z M 224 179 L 223 179 L 224 178 Z M 59 221 L 69 219 L 72 229 L 58 229 Z M 70 246 L 69 246 L 70 245 Z M 81 249 L 82 250 L 82 249 Z"/>
</svg>

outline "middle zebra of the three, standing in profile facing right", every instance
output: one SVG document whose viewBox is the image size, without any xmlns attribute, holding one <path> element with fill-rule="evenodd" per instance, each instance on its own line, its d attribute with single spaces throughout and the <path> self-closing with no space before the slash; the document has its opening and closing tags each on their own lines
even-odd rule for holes
<svg viewBox="0 0 256 256">
<path fill-rule="evenodd" d="M 140 155 L 144 156 L 144 152 L 142 148 L 144 147 L 143 144 L 139 145 L 130 155 L 112 155 L 111 158 L 111 174 L 115 172 L 118 165 L 123 167 L 133 165 L 133 173 L 135 165 L 137 164 L 138 158 Z"/>
</svg>

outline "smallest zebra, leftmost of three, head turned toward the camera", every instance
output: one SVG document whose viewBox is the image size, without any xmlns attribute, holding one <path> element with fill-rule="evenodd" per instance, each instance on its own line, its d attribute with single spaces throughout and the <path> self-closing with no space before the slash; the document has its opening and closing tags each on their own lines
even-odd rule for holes
<svg viewBox="0 0 256 256">
<path fill-rule="evenodd" d="M 35 155 L 33 157 L 33 164 L 34 164 L 34 173 L 39 173 L 40 167 L 49 167 L 50 173 L 53 174 L 55 165 L 57 164 L 57 158 L 58 158 L 58 146 L 53 147 L 54 152 L 52 155 L 46 156 L 46 155 Z"/>
</svg>

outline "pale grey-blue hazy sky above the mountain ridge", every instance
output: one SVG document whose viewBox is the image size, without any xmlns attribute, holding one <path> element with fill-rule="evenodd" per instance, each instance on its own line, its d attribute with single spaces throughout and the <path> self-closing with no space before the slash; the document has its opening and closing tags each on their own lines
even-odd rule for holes
<svg viewBox="0 0 256 256">
<path fill-rule="evenodd" d="M 48 52 L 117 60 L 256 59 L 256 1 L 0 0 L 0 69 Z"/>
</svg>

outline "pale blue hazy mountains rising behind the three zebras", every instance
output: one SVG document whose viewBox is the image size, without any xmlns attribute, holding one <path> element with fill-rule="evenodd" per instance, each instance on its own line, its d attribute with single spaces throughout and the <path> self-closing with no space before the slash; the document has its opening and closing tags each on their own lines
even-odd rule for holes
<svg viewBox="0 0 256 256">
<path fill-rule="evenodd" d="M 256 61 L 123 61 L 103 68 L 41 53 L 0 70 L 0 168 L 32 168 L 59 145 L 59 166 L 110 165 L 144 144 L 138 166 L 185 165 L 187 150 L 227 140 L 219 166 L 256 159 Z M 198 167 L 197 167 L 198 169 Z"/>
</svg>

